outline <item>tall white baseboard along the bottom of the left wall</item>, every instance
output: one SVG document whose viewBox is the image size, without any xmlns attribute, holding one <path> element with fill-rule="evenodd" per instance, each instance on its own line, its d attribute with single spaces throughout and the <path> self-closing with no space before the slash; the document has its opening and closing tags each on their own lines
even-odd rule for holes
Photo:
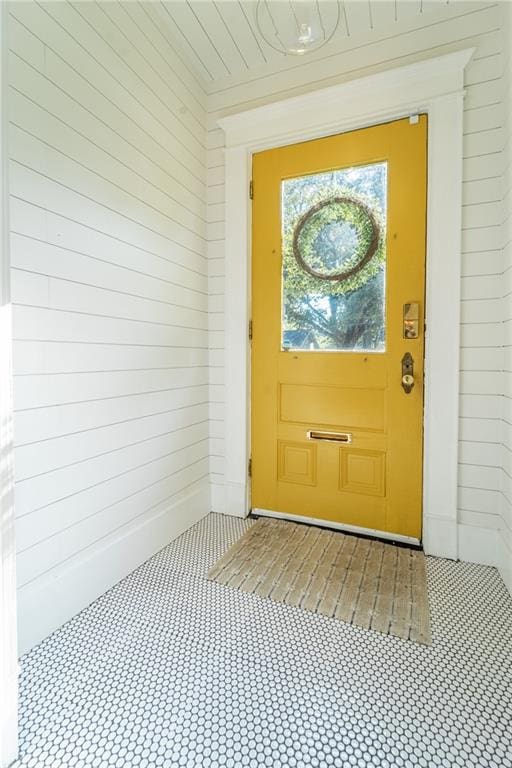
<svg viewBox="0 0 512 768">
<path fill-rule="evenodd" d="M 18 591 L 18 649 L 26 653 L 209 512 L 206 481 Z"/>
</svg>

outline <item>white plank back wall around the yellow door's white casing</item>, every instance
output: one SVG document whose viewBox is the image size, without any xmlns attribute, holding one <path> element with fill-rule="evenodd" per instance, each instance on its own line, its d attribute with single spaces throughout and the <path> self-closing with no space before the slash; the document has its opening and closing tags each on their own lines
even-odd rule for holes
<svg viewBox="0 0 512 768">
<path fill-rule="evenodd" d="M 344 53 L 315 61 L 290 57 L 279 73 L 214 83 L 209 97 L 208 268 L 210 276 L 211 479 L 214 509 L 224 506 L 223 295 L 224 167 L 219 116 L 354 77 L 475 47 L 464 105 L 462 372 L 459 520 L 461 556 L 496 563 L 502 469 L 503 51 L 501 8 L 453 3 L 442 17 L 425 14 L 369 43 L 352 39 Z M 336 73 L 336 74 L 333 74 Z"/>
</svg>

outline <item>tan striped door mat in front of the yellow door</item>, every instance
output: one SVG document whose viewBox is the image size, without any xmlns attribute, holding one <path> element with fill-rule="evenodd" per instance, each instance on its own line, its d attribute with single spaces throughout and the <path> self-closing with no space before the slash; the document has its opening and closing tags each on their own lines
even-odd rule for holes
<svg viewBox="0 0 512 768">
<path fill-rule="evenodd" d="M 429 645 L 423 552 L 260 518 L 208 579 L 365 629 Z"/>
</svg>

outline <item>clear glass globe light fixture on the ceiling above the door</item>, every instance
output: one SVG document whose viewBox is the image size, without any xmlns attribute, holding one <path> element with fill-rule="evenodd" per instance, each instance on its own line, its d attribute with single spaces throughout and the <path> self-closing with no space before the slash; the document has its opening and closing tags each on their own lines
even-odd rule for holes
<svg viewBox="0 0 512 768">
<path fill-rule="evenodd" d="M 284 55 L 317 51 L 340 21 L 339 0 L 258 0 L 256 25 L 265 42 Z"/>
</svg>

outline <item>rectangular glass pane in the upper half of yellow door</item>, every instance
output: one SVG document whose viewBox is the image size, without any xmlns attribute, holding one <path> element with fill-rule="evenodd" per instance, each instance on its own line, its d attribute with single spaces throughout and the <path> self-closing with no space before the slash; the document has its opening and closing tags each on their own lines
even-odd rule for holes
<svg viewBox="0 0 512 768">
<path fill-rule="evenodd" d="M 282 348 L 383 352 L 387 163 L 285 179 L 281 191 Z"/>
</svg>

